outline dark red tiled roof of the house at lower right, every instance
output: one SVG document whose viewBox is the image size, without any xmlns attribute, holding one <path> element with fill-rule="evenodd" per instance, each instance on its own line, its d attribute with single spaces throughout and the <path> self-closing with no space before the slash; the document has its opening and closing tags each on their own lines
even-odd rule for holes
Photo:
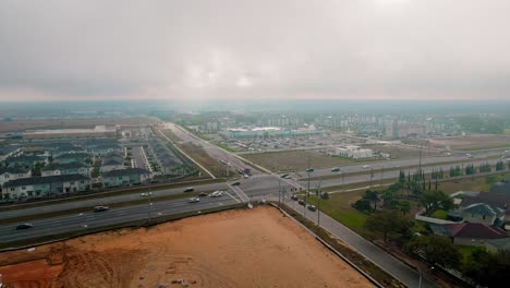
<svg viewBox="0 0 510 288">
<path fill-rule="evenodd" d="M 449 224 L 448 230 L 451 237 L 474 239 L 500 239 L 507 237 L 507 232 L 501 228 L 481 223 Z"/>
</svg>

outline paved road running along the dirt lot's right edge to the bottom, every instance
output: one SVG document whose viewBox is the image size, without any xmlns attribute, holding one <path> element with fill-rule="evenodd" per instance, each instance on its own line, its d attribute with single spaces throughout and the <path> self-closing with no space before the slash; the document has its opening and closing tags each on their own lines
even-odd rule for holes
<svg viewBox="0 0 510 288">
<path fill-rule="evenodd" d="M 304 206 L 299 205 L 295 201 L 286 199 L 284 202 L 293 207 L 296 212 L 303 214 L 305 211 L 306 218 L 317 223 L 317 212 L 311 212 Z M 376 247 L 372 242 L 365 240 L 357 233 L 353 232 L 351 229 L 341 225 L 337 220 L 327 216 L 324 213 L 320 213 L 320 226 L 327 229 L 329 232 L 341 239 L 343 242 L 348 243 L 366 259 L 374 262 L 376 265 L 381 267 L 384 271 L 392 275 L 394 278 L 399 279 L 408 287 L 417 287 L 420 280 L 420 274 L 402 263 L 401 261 L 394 259 L 390 254 L 386 253 L 382 249 Z M 422 287 L 437 287 L 433 281 L 423 279 Z"/>
</svg>

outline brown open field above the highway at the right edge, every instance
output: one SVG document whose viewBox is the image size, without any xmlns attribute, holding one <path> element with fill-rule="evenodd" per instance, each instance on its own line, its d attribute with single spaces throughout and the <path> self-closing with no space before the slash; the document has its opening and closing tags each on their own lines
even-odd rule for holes
<svg viewBox="0 0 510 288">
<path fill-rule="evenodd" d="M 464 137 L 433 139 L 430 144 L 437 148 L 461 149 L 488 149 L 510 147 L 510 135 L 469 135 Z"/>
</svg>

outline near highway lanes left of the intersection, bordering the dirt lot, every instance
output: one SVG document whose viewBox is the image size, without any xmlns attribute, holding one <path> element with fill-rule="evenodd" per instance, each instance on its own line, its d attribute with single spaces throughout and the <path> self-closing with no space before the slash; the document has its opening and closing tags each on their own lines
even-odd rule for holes
<svg viewBox="0 0 510 288">
<path fill-rule="evenodd" d="M 218 207 L 239 203 L 238 196 L 224 193 L 221 197 L 203 197 L 198 203 L 187 203 L 187 199 L 154 202 L 150 205 L 151 217 L 171 215 L 183 212 Z M 34 219 L 29 221 L 34 225 L 31 229 L 16 230 L 17 224 L 0 226 L 0 243 L 11 243 L 23 239 L 31 239 L 41 236 L 58 235 L 61 232 L 86 230 L 94 227 L 129 223 L 147 219 L 149 216 L 149 205 L 147 204 L 111 208 L 106 212 L 90 212 L 64 215 L 52 218 Z M 86 227 L 85 227 L 86 225 Z"/>
</svg>

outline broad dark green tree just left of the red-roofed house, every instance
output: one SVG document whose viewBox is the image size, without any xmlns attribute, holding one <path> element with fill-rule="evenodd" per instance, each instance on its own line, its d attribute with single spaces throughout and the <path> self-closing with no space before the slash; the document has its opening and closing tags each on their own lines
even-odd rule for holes
<svg viewBox="0 0 510 288">
<path fill-rule="evenodd" d="M 411 240 L 404 251 L 446 268 L 458 267 L 462 256 L 450 239 L 437 235 L 420 236 Z"/>
</svg>

